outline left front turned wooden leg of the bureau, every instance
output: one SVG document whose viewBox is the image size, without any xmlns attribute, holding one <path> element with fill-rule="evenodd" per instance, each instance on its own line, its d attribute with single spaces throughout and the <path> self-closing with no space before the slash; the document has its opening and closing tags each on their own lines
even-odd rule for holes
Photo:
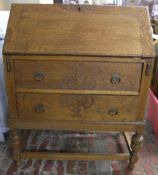
<svg viewBox="0 0 158 175">
<path fill-rule="evenodd" d="M 11 147 L 13 149 L 13 159 L 17 166 L 20 164 L 21 137 L 16 129 L 10 131 Z"/>
</svg>

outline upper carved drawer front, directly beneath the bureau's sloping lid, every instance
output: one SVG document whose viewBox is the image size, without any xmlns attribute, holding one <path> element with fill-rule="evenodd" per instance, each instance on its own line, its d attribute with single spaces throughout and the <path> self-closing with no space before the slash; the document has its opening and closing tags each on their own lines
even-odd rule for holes
<svg viewBox="0 0 158 175">
<path fill-rule="evenodd" d="M 141 63 L 15 60 L 17 88 L 139 91 Z"/>
</svg>

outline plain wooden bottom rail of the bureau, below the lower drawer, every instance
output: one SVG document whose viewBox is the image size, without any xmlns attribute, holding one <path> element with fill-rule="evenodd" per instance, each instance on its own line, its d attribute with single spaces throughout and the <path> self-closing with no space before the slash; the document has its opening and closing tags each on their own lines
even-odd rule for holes
<svg viewBox="0 0 158 175">
<path fill-rule="evenodd" d="M 68 130 L 68 131 L 109 131 L 109 132 L 143 132 L 144 121 L 138 122 L 93 122 L 46 120 L 36 118 L 9 119 L 10 128 L 35 130 Z M 39 122 L 40 121 L 40 122 Z"/>
</svg>

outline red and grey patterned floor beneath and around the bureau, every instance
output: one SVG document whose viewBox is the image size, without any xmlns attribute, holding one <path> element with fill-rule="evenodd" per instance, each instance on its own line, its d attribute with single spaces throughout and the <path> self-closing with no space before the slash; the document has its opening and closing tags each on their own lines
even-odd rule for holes
<svg viewBox="0 0 158 175">
<path fill-rule="evenodd" d="M 158 137 L 147 122 L 144 147 L 134 171 L 128 161 L 22 160 L 17 168 L 7 143 L 0 143 L 0 175 L 158 175 Z M 58 152 L 127 152 L 119 133 L 31 131 L 26 147 Z"/>
</svg>

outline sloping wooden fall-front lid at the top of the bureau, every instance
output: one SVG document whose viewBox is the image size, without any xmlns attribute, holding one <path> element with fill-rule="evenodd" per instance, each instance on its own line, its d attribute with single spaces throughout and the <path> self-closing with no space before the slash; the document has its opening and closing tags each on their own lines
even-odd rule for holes
<svg viewBox="0 0 158 175">
<path fill-rule="evenodd" d="M 148 9 L 12 4 L 3 53 L 153 57 Z"/>
</svg>

